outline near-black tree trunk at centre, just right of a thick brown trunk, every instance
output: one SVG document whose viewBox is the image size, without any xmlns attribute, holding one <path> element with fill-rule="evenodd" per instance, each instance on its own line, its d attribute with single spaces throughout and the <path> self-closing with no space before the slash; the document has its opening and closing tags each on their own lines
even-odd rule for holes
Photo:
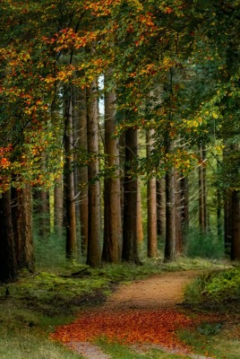
<svg viewBox="0 0 240 359">
<path fill-rule="evenodd" d="M 137 187 L 138 180 L 131 174 L 137 156 L 137 131 L 132 127 L 125 131 L 124 177 L 124 230 L 123 260 L 140 263 L 137 243 Z"/>
</svg>

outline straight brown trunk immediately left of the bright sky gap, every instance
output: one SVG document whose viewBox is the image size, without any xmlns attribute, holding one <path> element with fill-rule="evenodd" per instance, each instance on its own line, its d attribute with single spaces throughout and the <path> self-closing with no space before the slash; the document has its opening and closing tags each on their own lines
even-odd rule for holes
<svg viewBox="0 0 240 359">
<path fill-rule="evenodd" d="M 100 248 L 100 183 L 99 175 L 99 111 L 97 101 L 97 83 L 91 83 L 87 89 L 87 129 L 89 152 L 89 241 L 87 264 L 90 267 L 101 265 Z"/>
</svg>

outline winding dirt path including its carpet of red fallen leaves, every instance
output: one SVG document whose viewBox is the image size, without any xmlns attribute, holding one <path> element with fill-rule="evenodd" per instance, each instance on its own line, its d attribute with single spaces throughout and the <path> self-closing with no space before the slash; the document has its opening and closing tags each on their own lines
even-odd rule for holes
<svg viewBox="0 0 240 359">
<path fill-rule="evenodd" d="M 88 359 L 111 358 L 92 342 L 97 337 L 122 342 L 136 353 L 151 347 L 185 358 L 207 358 L 193 355 L 191 348 L 176 335 L 177 330 L 196 324 L 197 319 L 187 316 L 181 304 L 184 286 L 199 273 L 193 270 L 162 273 L 119 285 L 107 302 L 81 311 L 72 324 L 57 327 L 52 337 Z"/>
</svg>

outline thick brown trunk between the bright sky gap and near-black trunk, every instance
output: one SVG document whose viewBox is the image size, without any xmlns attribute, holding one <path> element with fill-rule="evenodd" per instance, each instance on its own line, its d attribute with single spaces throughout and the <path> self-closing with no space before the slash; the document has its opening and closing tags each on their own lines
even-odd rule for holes
<svg viewBox="0 0 240 359">
<path fill-rule="evenodd" d="M 106 79 L 107 80 L 107 79 Z M 118 141 L 115 133 L 114 92 L 105 94 L 105 166 L 109 174 L 104 179 L 104 245 L 102 259 L 118 262 L 121 258 L 121 194 L 119 179 Z"/>
</svg>

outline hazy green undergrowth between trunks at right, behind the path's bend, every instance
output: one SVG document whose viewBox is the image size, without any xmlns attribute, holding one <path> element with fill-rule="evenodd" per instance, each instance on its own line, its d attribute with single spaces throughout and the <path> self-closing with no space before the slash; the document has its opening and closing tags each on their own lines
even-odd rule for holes
<svg viewBox="0 0 240 359">
<path fill-rule="evenodd" d="M 190 258 L 224 258 L 224 243 L 211 232 L 203 234 L 196 230 L 190 230 L 187 235 L 185 253 Z"/>
</svg>

